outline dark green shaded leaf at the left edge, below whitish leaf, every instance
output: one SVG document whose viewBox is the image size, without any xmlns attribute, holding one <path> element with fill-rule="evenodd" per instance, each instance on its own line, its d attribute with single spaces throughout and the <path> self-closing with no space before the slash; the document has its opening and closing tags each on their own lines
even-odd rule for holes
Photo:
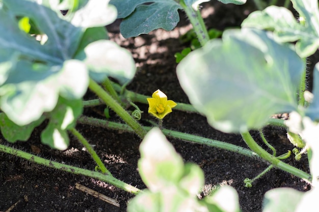
<svg viewBox="0 0 319 212">
<path fill-rule="evenodd" d="M 44 117 L 30 123 L 29 125 L 19 126 L 12 122 L 5 113 L 0 113 L 0 129 L 4 138 L 9 142 L 26 141 L 30 138 L 34 128 L 38 127 Z"/>
</svg>

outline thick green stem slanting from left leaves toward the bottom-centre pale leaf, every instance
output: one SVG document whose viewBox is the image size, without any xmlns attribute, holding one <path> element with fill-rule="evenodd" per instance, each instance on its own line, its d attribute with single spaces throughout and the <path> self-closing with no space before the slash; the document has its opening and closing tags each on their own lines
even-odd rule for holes
<svg viewBox="0 0 319 212">
<path fill-rule="evenodd" d="M 112 110 L 114 110 L 140 137 L 145 137 L 145 130 L 119 103 L 117 103 L 105 90 L 103 90 L 94 80 L 90 79 L 89 88 L 101 98 Z"/>
</svg>

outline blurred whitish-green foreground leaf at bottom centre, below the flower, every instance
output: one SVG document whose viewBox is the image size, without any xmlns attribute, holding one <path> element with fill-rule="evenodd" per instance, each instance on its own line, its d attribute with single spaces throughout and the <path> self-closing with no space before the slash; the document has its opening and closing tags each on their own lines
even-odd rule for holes
<svg viewBox="0 0 319 212">
<path fill-rule="evenodd" d="M 140 145 L 140 175 L 148 187 L 127 205 L 128 212 L 238 212 L 238 196 L 223 188 L 208 199 L 196 196 L 204 185 L 198 165 L 183 164 L 161 130 L 150 130 Z"/>
</svg>

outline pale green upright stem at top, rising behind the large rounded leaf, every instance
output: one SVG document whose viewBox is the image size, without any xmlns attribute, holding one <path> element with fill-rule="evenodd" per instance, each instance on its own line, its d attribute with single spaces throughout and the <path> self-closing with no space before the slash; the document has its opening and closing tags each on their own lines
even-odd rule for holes
<svg viewBox="0 0 319 212">
<path fill-rule="evenodd" d="M 190 19 L 200 45 L 204 46 L 209 41 L 209 36 L 199 9 L 186 5 L 183 0 L 179 1 L 179 4 Z"/>
</svg>

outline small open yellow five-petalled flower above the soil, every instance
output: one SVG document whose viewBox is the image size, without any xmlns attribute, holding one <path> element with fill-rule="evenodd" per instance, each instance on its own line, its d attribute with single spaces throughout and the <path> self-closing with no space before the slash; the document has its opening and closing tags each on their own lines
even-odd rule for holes
<svg viewBox="0 0 319 212">
<path fill-rule="evenodd" d="M 152 98 L 147 98 L 147 101 L 149 105 L 148 113 L 159 119 L 172 112 L 172 108 L 177 105 L 174 101 L 167 100 L 167 96 L 159 89 L 152 94 Z"/>
</svg>

